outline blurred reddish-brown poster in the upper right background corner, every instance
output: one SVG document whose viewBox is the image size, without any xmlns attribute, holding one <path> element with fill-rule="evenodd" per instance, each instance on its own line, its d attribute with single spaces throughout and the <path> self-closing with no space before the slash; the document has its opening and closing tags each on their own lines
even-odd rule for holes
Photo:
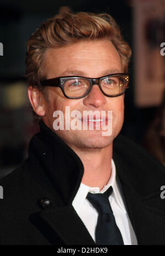
<svg viewBox="0 0 165 256">
<path fill-rule="evenodd" d="M 165 89 L 165 0 L 134 0 L 135 104 L 160 105 Z"/>
</svg>

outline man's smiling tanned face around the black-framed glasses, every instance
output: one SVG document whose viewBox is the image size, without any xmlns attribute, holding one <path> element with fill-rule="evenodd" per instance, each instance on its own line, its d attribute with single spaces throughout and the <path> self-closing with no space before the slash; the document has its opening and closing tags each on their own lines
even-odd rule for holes
<svg viewBox="0 0 165 256">
<path fill-rule="evenodd" d="M 122 73 L 123 68 L 119 54 L 108 40 L 81 41 L 58 49 L 50 48 L 45 53 L 44 69 L 47 79 L 78 75 L 88 78 L 103 77 L 108 74 Z M 107 97 L 102 94 L 98 85 L 93 85 L 91 91 L 82 99 L 68 99 L 58 87 L 46 87 L 48 101 L 45 101 L 45 116 L 43 122 L 61 137 L 65 143 L 74 148 L 105 148 L 111 145 L 123 125 L 124 95 Z M 103 130 L 54 130 L 53 112 L 60 110 L 65 115 L 65 107 L 70 112 L 80 111 L 112 111 L 112 134 L 103 136 Z M 73 118 L 71 118 L 72 121 Z M 65 127 L 65 118 L 64 118 Z"/>
</svg>

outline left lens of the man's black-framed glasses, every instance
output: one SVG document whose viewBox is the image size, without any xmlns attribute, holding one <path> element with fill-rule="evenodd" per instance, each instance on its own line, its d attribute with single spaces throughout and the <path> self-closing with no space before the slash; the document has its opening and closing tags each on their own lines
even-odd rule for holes
<svg viewBox="0 0 165 256">
<path fill-rule="evenodd" d="M 81 97 L 86 94 L 90 88 L 90 83 L 86 79 L 67 79 L 64 82 L 64 92 L 69 97 Z"/>
</svg>

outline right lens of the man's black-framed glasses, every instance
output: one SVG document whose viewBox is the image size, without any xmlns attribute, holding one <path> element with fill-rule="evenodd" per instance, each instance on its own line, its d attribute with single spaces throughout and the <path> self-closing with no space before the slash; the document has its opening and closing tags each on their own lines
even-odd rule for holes
<svg viewBox="0 0 165 256">
<path fill-rule="evenodd" d="M 122 94 L 128 85 L 129 77 L 126 75 L 116 75 L 101 80 L 101 89 L 107 95 Z"/>
</svg>

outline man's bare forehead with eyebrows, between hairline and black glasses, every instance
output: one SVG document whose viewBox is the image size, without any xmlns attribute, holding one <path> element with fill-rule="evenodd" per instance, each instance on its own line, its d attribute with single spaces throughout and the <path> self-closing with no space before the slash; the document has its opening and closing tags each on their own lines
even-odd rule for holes
<svg viewBox="0 0 165 256">
<path fill-rule="evenodd" d="M 48 48 L 43 66 L 47 78 L 65 75 L 101 77 L 123 72 L 119 53 L 108 40 L 80 41 Z"/>
</svg>

